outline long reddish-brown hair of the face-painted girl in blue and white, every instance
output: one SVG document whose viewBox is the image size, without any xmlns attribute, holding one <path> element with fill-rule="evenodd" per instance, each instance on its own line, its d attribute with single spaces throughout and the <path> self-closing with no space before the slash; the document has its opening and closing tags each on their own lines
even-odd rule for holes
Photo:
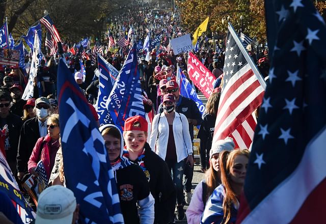
<svg viewBox="0 0 326 224">
<path fill-rule="evenodd" d="M 231 209 L 232 206 L 238 206 L 238 200 L 236 194 L 231 186 L 230 179 L 230 169 L 233 166 L 233 161 L 235 156 L 244 155 L 249 158 L 249 151 L 247 149 L 238 149 L 229 151 L 223 151 L 219 157 L 220 169 L 221 169 L 221 181 L 225 187 L 225 197 L 223 201 L 223 212 L 224 212 L 224 222 L 228 223 L 231 218 Z"/>
</svg>

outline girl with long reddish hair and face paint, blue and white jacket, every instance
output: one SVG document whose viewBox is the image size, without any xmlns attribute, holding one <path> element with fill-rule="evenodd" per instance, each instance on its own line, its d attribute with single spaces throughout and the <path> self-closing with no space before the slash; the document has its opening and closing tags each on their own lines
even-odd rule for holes
<svg viewBox="0 0 326 224">
<path fill-rule="evenodd" d="M 235 223 L 239 197 L 249 161 L 247 149 L 223 151 L 219 156 L 222 184 L 211 194 L 201 223 Z"/>
</svg>

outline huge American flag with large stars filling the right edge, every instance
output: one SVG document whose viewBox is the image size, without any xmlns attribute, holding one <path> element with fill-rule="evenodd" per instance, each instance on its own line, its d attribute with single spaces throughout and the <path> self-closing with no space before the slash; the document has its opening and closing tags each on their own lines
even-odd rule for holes
<svg viewBox="0 0 326 224">
<path fill-rule="evenodd" d="M 325 22 L 308 0 L 265 9 L 269 81 L 237 221 L 326 223 Z"/>
</svg>

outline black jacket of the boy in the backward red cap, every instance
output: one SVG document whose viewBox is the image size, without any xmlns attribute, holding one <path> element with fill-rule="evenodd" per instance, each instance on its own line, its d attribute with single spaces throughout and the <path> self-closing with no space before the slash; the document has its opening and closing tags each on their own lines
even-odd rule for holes
<svg viewBox="0 0 326 224">
<path fill-rule="evenodd" d="M 149 172 L 150 191 L 155 199 L 154 223 L 173 221 L 176 203 L 176 192 L 168 165 L 145 144 L 144 163 Z"/>
</svg>

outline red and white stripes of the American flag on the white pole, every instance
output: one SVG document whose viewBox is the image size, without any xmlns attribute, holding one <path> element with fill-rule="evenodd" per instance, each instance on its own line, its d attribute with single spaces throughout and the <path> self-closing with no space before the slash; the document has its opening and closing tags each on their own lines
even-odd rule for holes
<svg viewBox="0 0 326 224">
<path fill-rule="evenodd" d="M 261 104 L 264 88 L 250 65 L 243 66 L 230 80 L 224 80 L 212 148 L 219 139 L 233 136 L 236 147 L 249 148 L 257 122 L 252 113 Z M 252 117 L 252 118 L 250 118 Z"/>
</svg>

